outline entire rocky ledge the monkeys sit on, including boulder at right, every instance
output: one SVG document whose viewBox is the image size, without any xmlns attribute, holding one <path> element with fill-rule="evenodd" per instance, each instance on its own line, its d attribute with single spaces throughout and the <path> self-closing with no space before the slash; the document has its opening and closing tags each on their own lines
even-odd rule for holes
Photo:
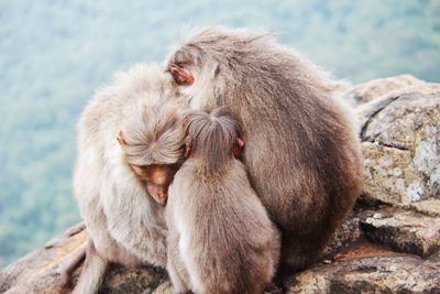
<svg viewBox="0 0 440 294">
<path fill-rule="evenodd" d="M 321 262 L 266 293 L 440 293 L 440 85 L 397 76 L 355 85 L 365 189 Z M 82 225 L 0 272 L 0 293 L 62 293 Z M 79 270 L 75 273 L 77 276 Z M 165 271 L 111 266 L 100 293 L 172 293 Z"/>
</svg>

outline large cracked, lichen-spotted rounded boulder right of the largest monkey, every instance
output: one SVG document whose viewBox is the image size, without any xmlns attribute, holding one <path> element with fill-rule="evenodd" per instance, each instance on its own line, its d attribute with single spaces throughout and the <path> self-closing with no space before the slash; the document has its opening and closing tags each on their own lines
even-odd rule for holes
<svg viewBox="0 0 440 294">
<path fill-rule="evenodd" d="M 364 193 L 392 204 L 440 197 L 440 94 L 381 98 L 360 117 Z"/>
</svg>

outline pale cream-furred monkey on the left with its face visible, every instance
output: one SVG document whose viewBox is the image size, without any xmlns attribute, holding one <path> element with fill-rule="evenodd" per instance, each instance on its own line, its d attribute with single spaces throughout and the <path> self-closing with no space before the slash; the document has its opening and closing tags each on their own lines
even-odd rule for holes
<svg viewBox="0 0 440 294">
<path fill-rule="evenodd" d="M 183 161 L 184 105 L 157 65 L 138 65 L 99 90 L 78 122 L 74 194 L 89 243 L 74 293 L 96 293 L 110 262 L 166 265 L 167 186 Z M 82 255 L 81 255 L 82 254 Z"/>
</svg>

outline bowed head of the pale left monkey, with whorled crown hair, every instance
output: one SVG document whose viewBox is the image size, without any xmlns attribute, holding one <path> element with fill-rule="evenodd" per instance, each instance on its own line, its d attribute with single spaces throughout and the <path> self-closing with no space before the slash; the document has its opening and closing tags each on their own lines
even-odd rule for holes
<svg viewBox="0 0 440 294">
<path fill-rule="evenodd" d="M 162 205 L 184 161 L 182 108 L 172 101 L 144 104 L 128 111 L 117 140 L 127 164 Z"/>
</svg>

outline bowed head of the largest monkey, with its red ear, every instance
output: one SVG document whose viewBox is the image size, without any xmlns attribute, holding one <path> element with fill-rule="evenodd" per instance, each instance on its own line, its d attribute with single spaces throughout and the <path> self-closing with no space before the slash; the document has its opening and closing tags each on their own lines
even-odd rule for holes
<svg viewBox="0 0 440 294">
<path fill-rule="evenodd" d="M 168 56 L 167 69 L 178 92 L 186 95 L 193 109 L 210 111 L 230 105 L 226 96 L 243 95 L 242 87 L 246 84 L 253 87 L 261 84 L 250 84 L 252 78 L 272 70 L 264 68 L 266 64 L 260 59 L 268 36 L 240 29 L 205 29 L 195 32 Z"/>
</svg>

